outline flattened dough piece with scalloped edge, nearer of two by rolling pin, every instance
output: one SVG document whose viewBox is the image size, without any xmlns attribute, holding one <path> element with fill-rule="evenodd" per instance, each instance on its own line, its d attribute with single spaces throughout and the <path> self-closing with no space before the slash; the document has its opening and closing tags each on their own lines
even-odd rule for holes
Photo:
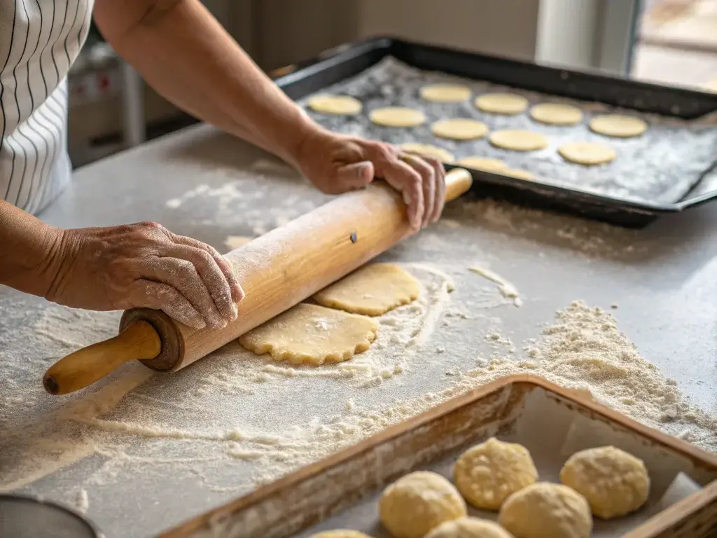
<svg viewBox="0 0 717 538">
<path fill-rule="evenodd" d="M 369 349 L 379 325 L 371 318 L 300 303 L 239 336 L 239 344 L 257 355 L 291 364 L 342 362 Z"/>
</svg>

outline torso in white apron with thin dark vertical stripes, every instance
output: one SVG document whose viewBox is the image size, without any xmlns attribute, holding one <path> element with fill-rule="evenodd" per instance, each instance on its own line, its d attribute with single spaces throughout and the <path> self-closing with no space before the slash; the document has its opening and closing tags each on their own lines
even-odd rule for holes
<svg viewBox="0 0 717 538">
<path fill-rule="evenodd" d="M 93 0 L 0 0 L 0 199 L 40 212 L 70 181 L 67 71 Z"/>
</svg>

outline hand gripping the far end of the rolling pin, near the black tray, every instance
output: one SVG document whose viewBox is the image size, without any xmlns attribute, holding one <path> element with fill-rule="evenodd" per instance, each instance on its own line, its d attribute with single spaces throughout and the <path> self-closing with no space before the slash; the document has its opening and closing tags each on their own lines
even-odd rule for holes
<svg viewBox="0 0 717 538">
<path fill-rule="evenodd" d="M 406 154 L 388 143 L 343 136 L 323 129 L 308 134 L 297 166 L 326 194 L 365 187 L 374 176 L 403 194 L 411 227 L 438 220 L 445 202 L 445 170 L 440 161 Z"/>
</svg>

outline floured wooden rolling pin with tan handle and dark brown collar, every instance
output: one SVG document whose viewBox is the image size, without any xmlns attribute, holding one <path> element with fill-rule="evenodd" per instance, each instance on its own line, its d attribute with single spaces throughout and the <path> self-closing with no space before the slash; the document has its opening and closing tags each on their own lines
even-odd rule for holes
<svg viewBox="0 0 717 538">
<path fill-rule="evenodd" d="M 446 201 L 470 189 L 464 169 L 446 174 Z M 67 394 L 135 359 L 175 372 L 237 339 L 388 250 L 409 234 L 401 195 L 383 181 L 343 194 L 288 225 L 232 250 L 227 259 L 246 297 L 224 329 L 192 329 L 162 311 L 123 313 L 120 333 L 63 357 L 42 379 L 47 392 Z"/>
</svg>

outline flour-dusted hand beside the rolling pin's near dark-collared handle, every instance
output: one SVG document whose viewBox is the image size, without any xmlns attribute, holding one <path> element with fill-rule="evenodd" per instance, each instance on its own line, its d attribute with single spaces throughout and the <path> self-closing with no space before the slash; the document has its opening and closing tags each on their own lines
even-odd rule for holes
<svg viewBox="0 0 717 538">
<path fill-rule="evenodd" d="M 244 291 L 229 262 L 156 222 L 62 230 L 49 301 L 87 310 L 148 307 L 181 323 L 220 329 Z"/>
</svg>

